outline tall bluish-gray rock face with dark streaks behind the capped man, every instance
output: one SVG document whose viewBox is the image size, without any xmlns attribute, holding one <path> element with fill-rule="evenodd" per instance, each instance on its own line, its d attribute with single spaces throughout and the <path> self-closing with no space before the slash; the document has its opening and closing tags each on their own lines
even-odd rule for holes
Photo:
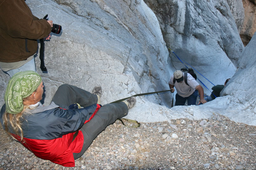
<svg viewBox="0 0 256 170">
<path fill-rule="evenodd" d="M 156 14 L 166 44 L 178 56 L 214 84 L 224 84 L 232 77 L 244 46 L 226 1 L 145 2 Z M 175 55 L 169 62 L 172 71 L 184 67 Z"/>
</svg>

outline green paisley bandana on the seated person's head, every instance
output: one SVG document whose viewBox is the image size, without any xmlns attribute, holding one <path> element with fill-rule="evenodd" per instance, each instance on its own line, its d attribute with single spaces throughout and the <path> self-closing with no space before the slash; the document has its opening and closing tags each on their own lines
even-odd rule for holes
<svg viewBox="0 0 256 170">
<path fill-rule="evenodd" d="M 6 112 L 20 113 L 23 108 L 23 98 L 30 96 L 42 82 L 41 76 L 34 71 L 24 71 L 14 74 L 6 87 L 4 101 Z"/>
</svg>

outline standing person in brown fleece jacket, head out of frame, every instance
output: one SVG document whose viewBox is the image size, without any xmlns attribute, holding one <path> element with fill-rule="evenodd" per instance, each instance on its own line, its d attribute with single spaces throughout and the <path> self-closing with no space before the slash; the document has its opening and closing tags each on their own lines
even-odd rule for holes
<svg viewBox="0 0 256 170">
<path fill-rule="evenodd" d="M 24 0 L 0 0 L 0 68 L 10 77 L 36 71 L 37 40 L 50 40 L 53 22 L 33 16 Z"/>
</svg>

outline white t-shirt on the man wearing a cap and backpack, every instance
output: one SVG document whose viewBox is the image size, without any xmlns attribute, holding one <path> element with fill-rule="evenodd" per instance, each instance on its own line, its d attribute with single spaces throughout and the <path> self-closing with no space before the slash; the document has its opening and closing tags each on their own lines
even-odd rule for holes
<svg viewBox="0 0 256 170">
<path fill-rule="evenodd" d="M 184 77 L 184 73 L 183 73 L 183 77 Z M 193 78 L 193 76 L 189 73 L 187 73 L 187 83 L 189 86 L 186 85 L 184 80 L 179 83 L 175 81 L 175 84 L 174 84 L 174 87 L 176 88 L 177 93 L 183 98 L 186 98 L 192 95 L 192 93 L 196 90 L 195 89 L 196 86 L 199 85 L 196 79 Z M 173 75 L 170 78 L 169 84 L 173 85 Z"/>
</svg>

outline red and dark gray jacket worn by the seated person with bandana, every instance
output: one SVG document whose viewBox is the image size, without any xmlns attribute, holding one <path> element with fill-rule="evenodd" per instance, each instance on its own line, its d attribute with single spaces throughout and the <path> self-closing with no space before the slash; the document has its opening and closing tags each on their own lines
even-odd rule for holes
<svg viewBox="0 0 256 170">
<path fill-rule="evenodd" d="M 99 108 L 99 104 L 93 104 L 82 109 L 54 108 L 26 114 L 24 118 L 27 123 L 24 121 L 22 125 L 25 142 L 22 144 L 41 159 L 50 160 L 64 167 L 74 167 L 73 153 L 82 150 L 84 137 L 82 131 L 79 131 L 72 142 L 73 135 L 84 123 L 93 118 Z M 5 105 L 1 109 L 1 117 L 4 111 Z M 2 119 L 1 123 L 3 124 Z M 20 141 L 19 136 L 13 136 Z"/>
</svg>

